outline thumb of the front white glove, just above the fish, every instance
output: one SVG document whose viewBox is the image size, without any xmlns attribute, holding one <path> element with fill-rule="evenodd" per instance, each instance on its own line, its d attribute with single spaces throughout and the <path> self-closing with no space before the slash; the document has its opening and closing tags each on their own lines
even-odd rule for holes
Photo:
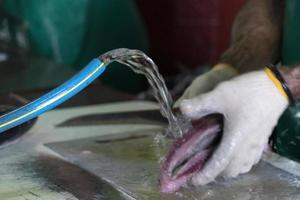
<svg viewBox="0 0 300 200">
<path fill-rule="evenodd" d="M 220 113 L 218 99 L 209 92 L 193 99 L 183 100 L 180 104 L 181 112 L 191 119 L 199 119 L 212 113 Z"/>
</svg>

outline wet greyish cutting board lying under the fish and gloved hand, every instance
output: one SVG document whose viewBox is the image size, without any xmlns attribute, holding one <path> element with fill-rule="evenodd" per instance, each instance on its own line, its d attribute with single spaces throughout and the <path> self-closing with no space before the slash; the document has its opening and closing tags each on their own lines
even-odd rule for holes
<svg viewBox="0 0 300 200">
<path fill-rule="evenodd" d="M 236 179 L 188 187 L 176 194 L 162 194 L 158 184 L 160 156 L 153 144 L 153 139 L 161 132 L 161 129 L 153 129 L 47 146 L 66 160 L 107 181 L 130 199 L 300 199 L 300 178 L 264 161 L 250 173 Z"/>
</svg>

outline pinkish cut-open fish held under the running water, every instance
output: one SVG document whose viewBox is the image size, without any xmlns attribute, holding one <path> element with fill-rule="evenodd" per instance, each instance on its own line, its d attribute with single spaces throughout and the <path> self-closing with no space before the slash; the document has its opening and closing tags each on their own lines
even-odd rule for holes
<svg viewBox="0 0 300 200">
<path fill-rule="evenodd" d="M 160 164 L 160 190 L 173 193 L 186 186 L 203 169 L 222 138 L 223 116 L 210 114 L 192 122 L 176 139 Z"/>
</svg>

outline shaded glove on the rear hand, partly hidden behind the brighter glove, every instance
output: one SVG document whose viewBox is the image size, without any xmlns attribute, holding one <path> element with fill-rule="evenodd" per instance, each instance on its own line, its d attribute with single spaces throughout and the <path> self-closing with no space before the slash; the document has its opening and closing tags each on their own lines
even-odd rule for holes
<svg viewBox="0 0 300 200">
<path fill-rule="evenodd" d="M 197 77 L 176 101 L 174 106 L 178 107 L 183 99 L 190 99 L 212 90 L 220 82 L 228 80 L 237 74 L 237 70 L 230 65 L 222 63 L 217 64 L 210 71 Z"/>
</svg>

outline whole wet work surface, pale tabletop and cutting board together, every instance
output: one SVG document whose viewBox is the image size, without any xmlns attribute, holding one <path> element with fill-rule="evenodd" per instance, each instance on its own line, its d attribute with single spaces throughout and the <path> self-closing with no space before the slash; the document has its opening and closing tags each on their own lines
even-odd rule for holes
<svg viewBox="0 0 300 200">
<path fill-rule="evenodd" d="M 0 199 L 300 199 L 298 163 L 264 155 L 249 174 L 176 194 L 158 189 L 158 125 L 56 127 L 72 117 L 153 109 L 147 102 L 60 109 L 0 150 Z"/>
</svg>

